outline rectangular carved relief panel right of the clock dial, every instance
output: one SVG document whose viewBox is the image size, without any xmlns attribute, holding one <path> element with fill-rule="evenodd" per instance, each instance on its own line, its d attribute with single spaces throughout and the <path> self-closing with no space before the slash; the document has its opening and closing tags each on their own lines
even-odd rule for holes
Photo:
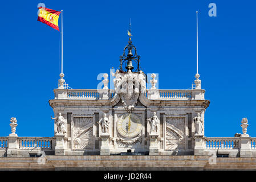
<svg viewBox="0 0 256 182">
<path fill-rule="evenodd" d="M 166 117 L 166 149 L 185 149 L 185 118 Z"/>
</svg>

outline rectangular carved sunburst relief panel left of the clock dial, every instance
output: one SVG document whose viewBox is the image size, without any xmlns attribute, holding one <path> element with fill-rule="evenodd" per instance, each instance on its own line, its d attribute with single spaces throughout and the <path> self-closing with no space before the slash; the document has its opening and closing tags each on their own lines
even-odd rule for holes
<svg viewBox="0 0 256 182">
<path fill-rule="evenodd" d="M 92 117 L 74 117 L 74 149 L 92 148 Z"/>
</svg>

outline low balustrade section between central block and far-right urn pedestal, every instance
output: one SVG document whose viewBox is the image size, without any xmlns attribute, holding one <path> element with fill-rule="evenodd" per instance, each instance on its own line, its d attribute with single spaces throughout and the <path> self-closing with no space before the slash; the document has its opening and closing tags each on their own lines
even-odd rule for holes
<svg viewBox="0 0 256 182">
<path fill-rule="evenodd" d="M 220 138 L 205 138 L 206 150 L 231 150 L 239 147 L 239 138 L 235 137 L 220 137 Z"/>
</svg>

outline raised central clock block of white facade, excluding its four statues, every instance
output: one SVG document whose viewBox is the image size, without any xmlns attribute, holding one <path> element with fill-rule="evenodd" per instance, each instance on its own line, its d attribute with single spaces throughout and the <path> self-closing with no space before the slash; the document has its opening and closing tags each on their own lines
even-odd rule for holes
<svg viewBox="0 0 256 182">
<path fill-rule="evenodd" d="M 193 118 L 200 113 L 204 121 L 209 106 L 209 101 L 204 100 L 205 90 L 159 90 L 155 88 L 155 77 L 152 74 L 153 84 L 148 90 L 142 71 L 116 71 L 114 93 L 105 84 L 107 92 L 101 93 L 97 92 L 100 90 L 55 89 L 55 99 L 49 103 L 55 116 L 61 113 L 65 119 L 65 154 L 100 154 L 101 126 L 98 122 L 104 113 L 109 121 L 110 154 L 131 150 L 147 155 L 151 146 L 148 119 L 154 113 L 159 122 L 155 133 L 159 154 L 193 154 L 196 132 Z M 55 123 L 55 133 L 56 129 Z"/>
</svg>

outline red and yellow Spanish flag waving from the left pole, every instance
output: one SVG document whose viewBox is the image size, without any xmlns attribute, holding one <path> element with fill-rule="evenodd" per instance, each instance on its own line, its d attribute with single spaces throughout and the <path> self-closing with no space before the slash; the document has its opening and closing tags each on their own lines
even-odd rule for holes
<svg viewBox="0 0 256 182">
<path fill-rule="evenodd" d="M 37 20 L 59 31 L 58 21 L 59 21 L 59 14 L 61 12 L 48 9 L 46 7 L 38 7 L 38 9 L 40 12 L 38 14 Z"/>
</svg>

